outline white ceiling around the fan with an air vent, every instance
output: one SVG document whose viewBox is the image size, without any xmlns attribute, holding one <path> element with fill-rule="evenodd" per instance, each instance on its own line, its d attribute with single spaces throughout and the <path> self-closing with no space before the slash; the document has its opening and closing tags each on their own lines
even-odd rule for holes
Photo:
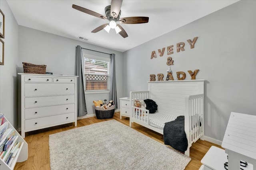
<svg viewBox="0 0 256 170">
<path fill-rule="evenodd" d="M 123 38 L 114 29 L 91 33 L 108 20 L 96 18 L 72 8 L 72 4 L 105 16 L 111 0 L 7 0 L 19 25 L 84 41 L 124 52 L 168 33 L 238 0 L 123 0 L 121 16 L 146 16 L 148 23 L 122 24 L 128 34 Z"/>
</svg>

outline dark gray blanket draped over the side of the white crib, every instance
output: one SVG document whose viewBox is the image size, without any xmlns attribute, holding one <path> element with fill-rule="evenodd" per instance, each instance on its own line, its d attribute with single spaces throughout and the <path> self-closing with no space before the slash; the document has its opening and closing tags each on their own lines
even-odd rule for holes
<svg viewBox="0 0 256 170">
<path fill-rule="evenodd" d="M 178 116 L 174 121 L 164 125 L 164 144 L 185 152 L 188 148 L 188 139 L 184 130 L 184 116 Z"/>
</svg>

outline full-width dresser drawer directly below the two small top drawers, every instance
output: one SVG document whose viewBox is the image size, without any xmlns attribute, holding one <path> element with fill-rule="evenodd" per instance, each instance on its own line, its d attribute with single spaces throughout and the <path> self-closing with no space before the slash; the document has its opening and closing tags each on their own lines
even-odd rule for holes
<svg viewBox="0 0 256 170">
<path fill-rule="evenodd" d="M 75 94 L 75 84 L 25 83 L 25 96 Z"/>
</svg>

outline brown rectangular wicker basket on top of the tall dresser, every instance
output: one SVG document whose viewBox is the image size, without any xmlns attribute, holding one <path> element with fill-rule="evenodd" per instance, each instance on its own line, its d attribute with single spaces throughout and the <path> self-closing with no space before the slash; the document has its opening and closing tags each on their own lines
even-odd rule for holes
<svg viewBox="0 0 256 170">
<path fill-rule="evenodd" d="M 31 63 L 22 63 L 23 64 L 23 72 L 31 73 L 31 74 L 45 74 L 46 65 L 36 65 Z"/>
</svg>

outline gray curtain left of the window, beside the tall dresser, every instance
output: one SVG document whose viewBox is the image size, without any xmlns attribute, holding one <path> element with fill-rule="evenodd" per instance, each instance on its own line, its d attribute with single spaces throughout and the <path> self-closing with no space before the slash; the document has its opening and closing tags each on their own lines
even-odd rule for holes
<svg viewBox="0 0 256 170">
<path fill-rule="evenodd" d="M 85 96 L 84 96 L 84 57 L 80 45 L 76 46 L 76 76 L 77 80 L 77 116 L 87 114 Z"/>
</svg>

